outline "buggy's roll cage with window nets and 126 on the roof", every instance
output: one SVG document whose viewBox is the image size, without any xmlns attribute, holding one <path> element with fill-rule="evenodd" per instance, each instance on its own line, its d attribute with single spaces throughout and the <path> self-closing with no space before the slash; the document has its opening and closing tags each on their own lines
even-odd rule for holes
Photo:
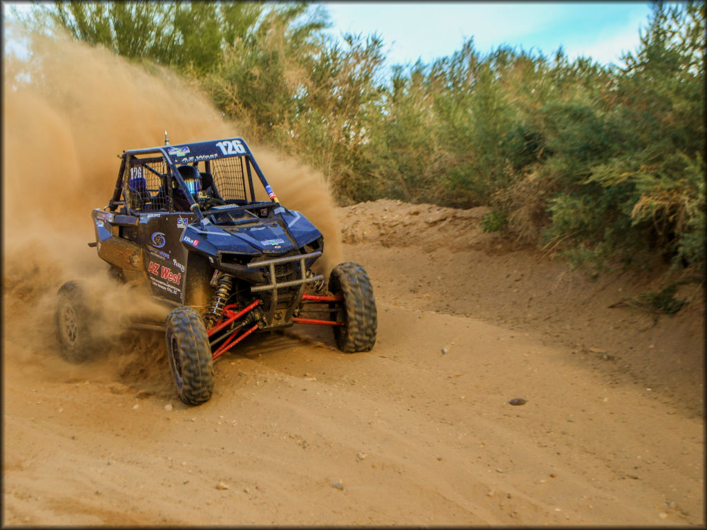
<svg viewBox="0 0 707 530">
<path fill-rule="evenodd" d="M 177 204 L 181 202 L 188 204 L 188 210 L 197 218 L 204 218 L 199 202 L 187 192 L 179 170 L 182 165 L 197 167 L 206 192 L 223 203 L 218 206 L 219 212 L 252 204 L 263 207 L 279 204 L 250 148 L 241 138 L 132 149 L 123 151 L 119 158 L 122 161 L 118 178 L 107 206 L 110 211 L 119 206 L 125 213 L 185 211 Z M 255 198 L 253 172 L 269 201 Z"/>
</svg>

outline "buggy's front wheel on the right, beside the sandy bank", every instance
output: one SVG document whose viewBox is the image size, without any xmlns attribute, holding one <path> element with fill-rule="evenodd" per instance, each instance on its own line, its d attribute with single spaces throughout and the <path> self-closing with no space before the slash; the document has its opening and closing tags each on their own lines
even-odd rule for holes
<svg viewBox="0 0 707 530">
<path fill-rule="evenodd" d="M 332 326 L 337 347 L 347 353 L 369 351 L 375 344 L 378 313 L 366 269 L 351 261 L 338 264 L 329 274 L 329 291 L 344 298 L 332 312 L 332 319 L 346 324 Z"/>
</svg>

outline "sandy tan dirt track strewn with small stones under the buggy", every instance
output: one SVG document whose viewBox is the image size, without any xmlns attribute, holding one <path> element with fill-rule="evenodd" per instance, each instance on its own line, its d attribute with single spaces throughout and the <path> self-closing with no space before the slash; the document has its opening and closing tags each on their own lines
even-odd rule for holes
<svg viewBox="0 0 707 530">
<path fill-rule="evenodd" d="M 510 249 L 482 213 L 339 208 L 373 351 L 255 336 L 199 407 L 159 335 L 74 366 L 6 325 L 4 524 L 703 525 L 701 290 L 674 317 L 607 309 L 640 278 Z M 4 287 L 27 322 L 39 293 Z"/>
</svg>

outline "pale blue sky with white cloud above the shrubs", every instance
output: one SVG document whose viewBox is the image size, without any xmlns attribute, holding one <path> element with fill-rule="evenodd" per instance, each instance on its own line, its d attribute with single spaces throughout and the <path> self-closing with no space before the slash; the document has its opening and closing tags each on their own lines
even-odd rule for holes
<svg viewBox="0 0 707 530">
<path fill-rule="evenodd" d="M 387 66 L 452 55 L 474 37 L 482 54 L 501 45 L 552 56 L 562 46 L 569 59 L 592 57 L 619 64 L 622 51 L 635 51 L 648 2 L 611 1 L 329 1 L 329 33 L 378 33 L 388 50 Z"/>
</svg>

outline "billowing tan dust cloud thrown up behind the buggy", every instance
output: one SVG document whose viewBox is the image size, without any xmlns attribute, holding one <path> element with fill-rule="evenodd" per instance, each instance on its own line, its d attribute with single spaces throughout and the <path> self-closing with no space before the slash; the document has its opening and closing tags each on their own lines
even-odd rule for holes
<svg viewBox="0 0 707 530">
<path fill-rule="evenodd" d="M 115 187 L 117 155 L 163 145 L 165 130 L 173 144 L 224 136 L 248 141 L 248 131 L 166 69 L 131 64 L 66 37 L 26 38 L 28 61 L 4 57 L 4 342 L 36 358 L 56 348 L 53 307 L 64 281 L 81 278 L 90 287 L 108 339 L 120 336 L 121 307 L 150 305 L 117 291 L 107 264 L 87 245 L 95 239 L 90 211 L 105 206 Z M 269 148 L 250 147 L 282 204 L 322 231 L 319 270 L 328 273 L 341 261 L 341 237 L 327 184 Z M 43 332 L 33 333 L 37 327 Z"/>
</svg>

